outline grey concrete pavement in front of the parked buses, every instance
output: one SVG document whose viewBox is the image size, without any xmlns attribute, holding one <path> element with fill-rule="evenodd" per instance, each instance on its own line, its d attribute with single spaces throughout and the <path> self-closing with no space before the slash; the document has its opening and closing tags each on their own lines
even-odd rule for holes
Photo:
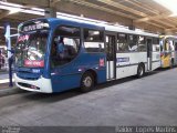
<svg viewBox="0 0 177 133">
<path fill-rule="evenodd" d="M 176 125 L 177 69 L 98 85 L 81 94 L 0 98 L 0 125 Z"/>
</svg>

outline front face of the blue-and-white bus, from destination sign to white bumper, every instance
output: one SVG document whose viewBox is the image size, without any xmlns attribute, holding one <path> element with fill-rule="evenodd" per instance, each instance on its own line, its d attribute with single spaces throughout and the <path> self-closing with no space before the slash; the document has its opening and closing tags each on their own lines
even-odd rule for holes
<svg viewBox="0 0 177 133">
<path fill-rule="evenodd" d="M 52 93 L 51 80 L 45 72 L 49 29 L 46 20 L 28 21 L 19 25 L 14 81 L 20 89 Z"/>
</svg>

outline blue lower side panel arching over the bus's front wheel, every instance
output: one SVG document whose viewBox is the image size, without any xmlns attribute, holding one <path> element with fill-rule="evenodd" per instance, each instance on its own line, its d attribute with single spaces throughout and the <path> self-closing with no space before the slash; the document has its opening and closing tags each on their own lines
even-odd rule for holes
<svg viewBox="0 0 177 133">
<path fill-rule="evenodd" d="M 52 73 L 53 92 L 80 88 L 84 72 L 94 71 L 97 83 L 106 81 L 106 65 L 104 53 L 81 53 L 72 62 L 55 68 Z"/>
</svg>

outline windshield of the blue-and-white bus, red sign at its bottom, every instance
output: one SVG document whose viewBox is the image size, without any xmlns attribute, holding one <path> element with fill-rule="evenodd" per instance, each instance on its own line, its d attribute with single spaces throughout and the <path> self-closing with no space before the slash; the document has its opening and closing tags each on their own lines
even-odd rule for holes
<svg viewBox="0 0 177 133">
<path fill-rule="evenodd" d="M 43 68 L 48 31 L 23 33 L 15 47 L 15 64 L 25 68 Z"/>
</svg>

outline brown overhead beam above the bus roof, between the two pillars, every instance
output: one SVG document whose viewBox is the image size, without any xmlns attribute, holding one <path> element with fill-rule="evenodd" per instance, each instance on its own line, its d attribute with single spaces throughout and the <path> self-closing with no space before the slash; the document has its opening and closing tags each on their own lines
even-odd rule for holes
<svg viewBox="0 0 177 133">
<path fill-rule="evenodd" d="M 76 2 L 70 2 L 70 1 L 61 1 L 59 2 L 59 4 L 56 4 L 55 7 L 56 9 L 60 10 L 60 12 L 63 13 L 69 13 L 69 14 L 74 14 L 74 16 L 80 16 L 83 14 L 83 17 L 85 18 L 90 18 L 90 19 L 95 19 L 95 20 L 102 20 L 102 21 L 106 21 L 106 22 L 117 22 L 119 24 L 123 25 L 132 25 L 132 19 L 126 18 L 126 17 L 122 17 L 118 16 L 118 13 L 115 14 L 104 11 L 104 10 L 100 10 L 97 8 L 91 8 L 87 6 L 80 4 Z"/>
</svg>

